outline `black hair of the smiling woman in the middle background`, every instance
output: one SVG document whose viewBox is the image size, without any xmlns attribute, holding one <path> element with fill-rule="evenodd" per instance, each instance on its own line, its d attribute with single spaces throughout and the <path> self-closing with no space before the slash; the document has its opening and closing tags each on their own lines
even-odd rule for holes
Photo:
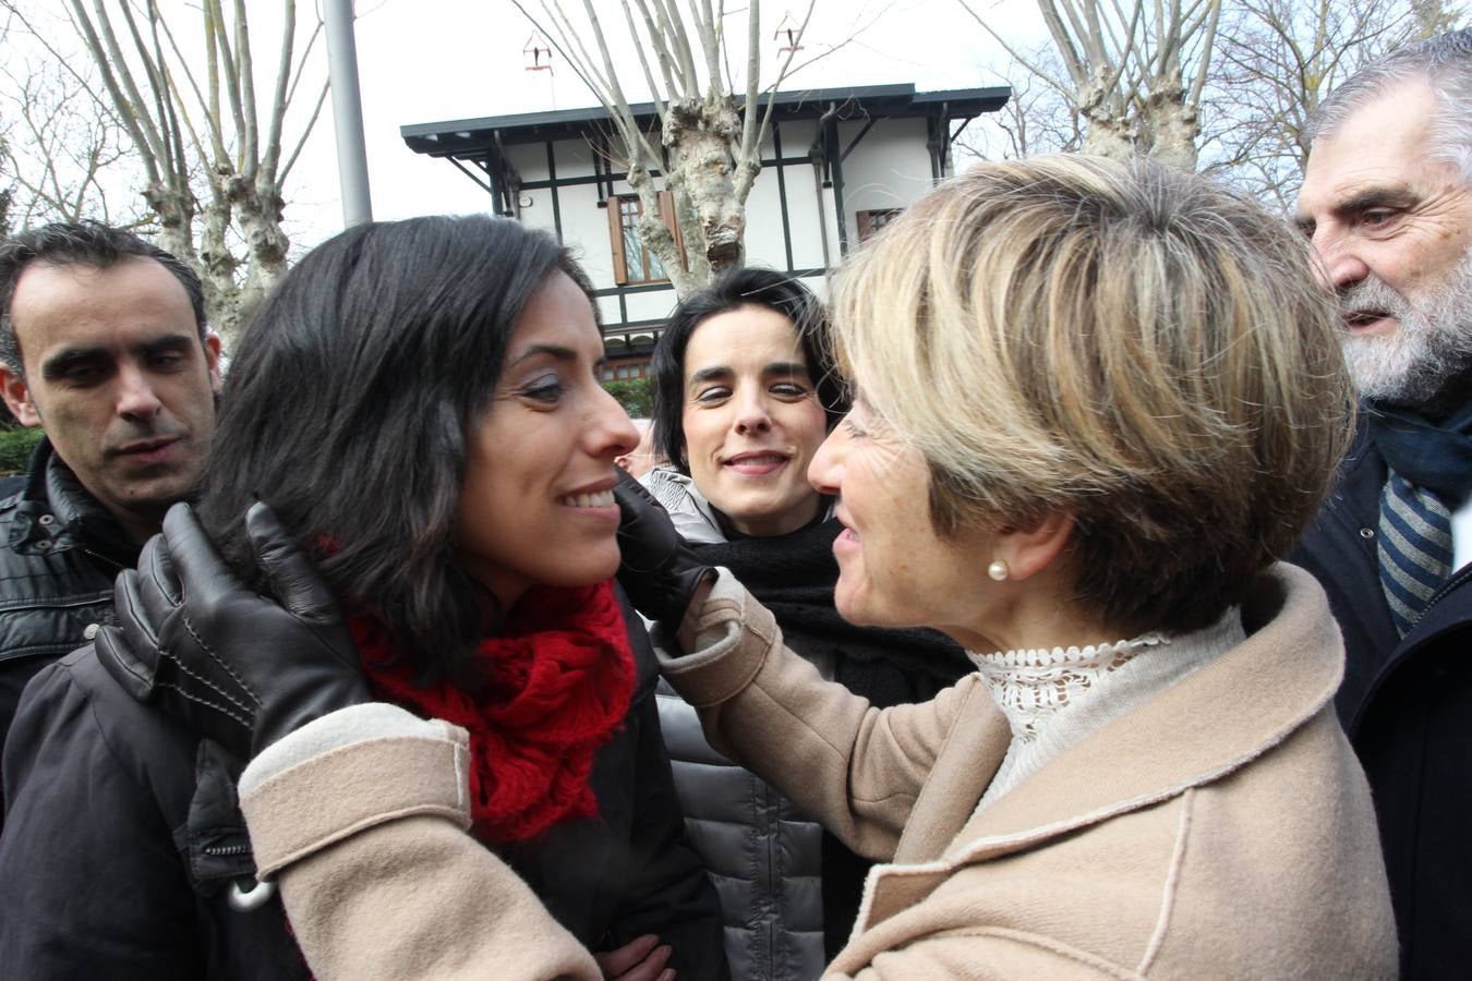
<svg viewBox="0 0 1472 981">
<path fill-rule="evenodd" d="M 764 306 L 792 321 L 802 359 L 827 413 L 827 428 L 848 412 L 848 393 L 827 346 L 827 315 L 813 291 L 773 269 L 727 269 L 710 285 L 680 300 L 655 344 L 654 444 L 682 474 L 690 472 L 684 453 L 684 349 L 707 319 L 742 306 Z"/>
</svg>

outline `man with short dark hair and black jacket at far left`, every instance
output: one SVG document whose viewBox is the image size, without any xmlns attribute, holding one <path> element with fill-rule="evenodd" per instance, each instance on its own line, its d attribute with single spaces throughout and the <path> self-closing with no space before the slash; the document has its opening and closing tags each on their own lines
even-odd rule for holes
<svg viewBox="0 0 1472 981">
<path fill-rule="evenodd" d="M 0 500 L 0 740 L 25 684 L 91 638 L 113 577 L 194 488 L 218 388 L 199 277 L 169 253 L 97 222 L 0 244 L 0 394 L 46 431 Z"/>
</svg>

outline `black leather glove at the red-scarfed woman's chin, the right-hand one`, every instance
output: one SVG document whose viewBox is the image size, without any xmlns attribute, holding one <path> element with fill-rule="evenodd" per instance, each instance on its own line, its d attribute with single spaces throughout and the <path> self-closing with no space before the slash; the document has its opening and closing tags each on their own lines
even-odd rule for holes
<svg viewBox="0 0 1472 981">
<path fill-rule="evenodd" d="M 674 637 L 695 591 L 715 581 L 715 569 L 695 556 L 654 494 L 623 469 L 614 499 L 621 513 L 618 582 L 636 610 Z"/>
</svg>

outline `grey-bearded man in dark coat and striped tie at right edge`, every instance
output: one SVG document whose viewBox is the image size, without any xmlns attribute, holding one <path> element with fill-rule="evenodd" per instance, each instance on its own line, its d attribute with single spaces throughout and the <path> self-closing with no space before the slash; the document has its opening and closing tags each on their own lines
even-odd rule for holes
<svg viewBox="0 0 1472 981">
<path fill-rule="evenodd" d="M 1292 556 L 1344 631 L 1340 719 L 1365 765 L 1412 978 L 1472 963 L 1472 29 L 1325 100 L 1298 225 L 1363 397 L 1340 485 Z M 1325 897 L 1325 902 L 1334 902 Z"/>
</svg>

